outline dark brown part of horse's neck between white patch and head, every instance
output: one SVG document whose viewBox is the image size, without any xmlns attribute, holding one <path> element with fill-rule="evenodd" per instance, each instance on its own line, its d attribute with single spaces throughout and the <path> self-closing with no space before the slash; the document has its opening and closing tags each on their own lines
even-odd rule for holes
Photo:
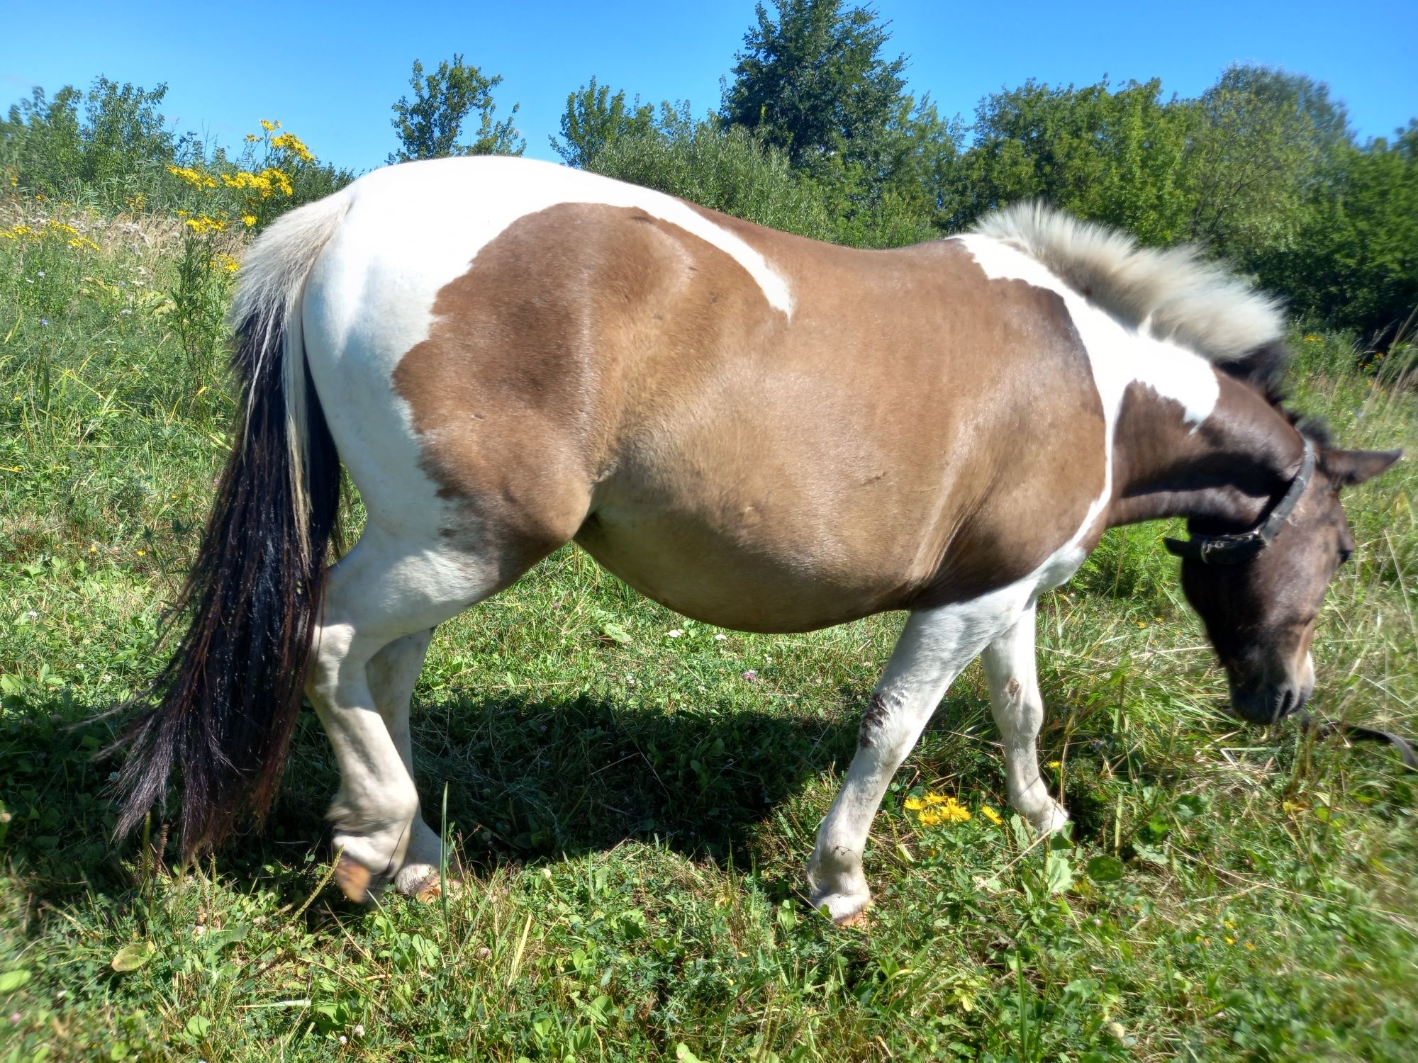
<svg viewBox="0 0 1418 1063">
<path fill-rule="evenodd" d="M 1217 376 L 1215 408 L 1195 427 L 1151 388 L 1129 388 L 1113 437 L 1110 526 L 1184 516 L 1198 530 L 1246 527 L 1295 476 L 1299 432 L 1254 387 Z"/>
</svg>

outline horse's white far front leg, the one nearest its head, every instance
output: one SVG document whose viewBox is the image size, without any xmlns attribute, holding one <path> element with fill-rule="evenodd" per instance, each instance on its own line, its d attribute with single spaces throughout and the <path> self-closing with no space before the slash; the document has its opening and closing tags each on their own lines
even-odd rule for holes
<svg viewBox="0 0 1418 1063">
<path fill-rule="evenodd" d="M 1039 775 L 1037 740 L 1044 724 L 1044 699 L 1034 658 L 1034 605 L 981 655 L 990 685 L 990 710 L 1004 741 L 1004 777 L 1010 804 L 1035 831 L 1052 833 L 1068 812 L 1049 797 Z"/>
</svg>

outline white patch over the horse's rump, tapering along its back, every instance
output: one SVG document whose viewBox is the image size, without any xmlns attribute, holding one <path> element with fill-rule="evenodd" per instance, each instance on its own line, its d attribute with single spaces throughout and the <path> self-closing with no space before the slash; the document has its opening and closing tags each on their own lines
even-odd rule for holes
<svg viewBox="0 0 1418 1063">
<path fill-rule="evenodd" d="M 370 519 L 414 540 L 437 533 L 445 503 L 437 483 L 410 475 L 423 439 L 393 373 L 431 334 L 438 292 L 519 218 L 563 203 L 638 207 L 730 255 L 791 316 L 787 281 L 747 242 L 681 200 L 600 174 L 512 157 L 435 159 L 376 170 L 340 196 L 343 223 L 305 289 L 306 357 Z"/>
</svg>

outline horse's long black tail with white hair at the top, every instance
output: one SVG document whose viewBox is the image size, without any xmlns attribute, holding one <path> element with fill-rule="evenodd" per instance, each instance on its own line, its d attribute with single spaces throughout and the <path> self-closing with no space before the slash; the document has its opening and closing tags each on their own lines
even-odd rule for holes
<svg viewBox="0 0 1418 1063">
<path fill-rule="evenodd" d="M 301 707 L 335 534 L 340 468 L 301 333 L 305 281 L 349 207 L 337 193 L 251 245 L 231 308 L 240 417 L 173 629 L 183 631 L 121 744 L 122 812 L 142 822 L 182 775 L 187 855 L 271 806 Z"/>
</svg>

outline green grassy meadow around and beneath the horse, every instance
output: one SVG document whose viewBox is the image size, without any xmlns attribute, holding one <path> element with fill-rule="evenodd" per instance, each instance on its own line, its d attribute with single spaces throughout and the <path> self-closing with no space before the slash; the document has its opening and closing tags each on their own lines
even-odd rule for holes
<svg viewBox="0 0 1418 1063">
<path fill-rule="evenodd" d="M 1414 777 L 1217 713 L 1159 527 L 1041 605 L 1072 839 L 986 814 L 1007 809 L 973 666 L 876 819 L 865 930 L 808 910 L 801 869 L 900 617 L 720 632 L 576 550 L 441 628 L 420 680 L 424 806 L 468 869 L 445 904 L 329 884 L 311 713 L 264 832 L 187 869 L 160 818 L 115 848 L 95 753 L 118 724 L 94 716 L 159 666 L 227 446 L 227 278 L 194 266 L 230 248 L 0 213 L 31 228 L 0 240 L 0 1060 L 1415 1057 Z M 1414 446 L 1411 388 L 1343 337 L 1297 344 L 1303 408 Z M 1415 486 L 1409 465 L 1353 493 L 1314 652 L 1320 712 L 1409 734 Z M 923 823 L 927 792 L 971 819 Z"/>
</svg>

